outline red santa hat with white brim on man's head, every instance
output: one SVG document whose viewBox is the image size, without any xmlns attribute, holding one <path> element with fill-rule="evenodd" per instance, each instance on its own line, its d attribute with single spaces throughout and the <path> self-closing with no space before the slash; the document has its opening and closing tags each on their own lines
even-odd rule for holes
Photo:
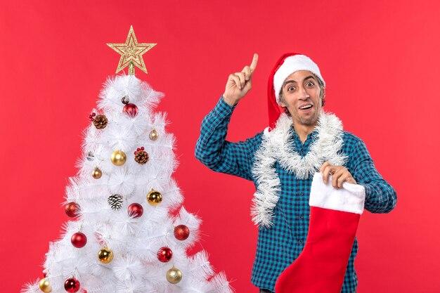
<svg viewBox="0 0 440 293">
<path fill-rule="evenodd" d="M 271 71 L 268 80 L 268 116 L 269 116 L 269 130 L 275 127 L 275 123 L 280 117 L 281 109 L 278 105 L 280 103 L 280 89 L 283 86 L 285 79 L 298 70 L 308 70 L 315 74 L 325 86 L 321 72 L 318 65 L 314 63 L 309 57 L 299 53 L 285 53 L 278 59 L 276 65 Z"/>
</svg>

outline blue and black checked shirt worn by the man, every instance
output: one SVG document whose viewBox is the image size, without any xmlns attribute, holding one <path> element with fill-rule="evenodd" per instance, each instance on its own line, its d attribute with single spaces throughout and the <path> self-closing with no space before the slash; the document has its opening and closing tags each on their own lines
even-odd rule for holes
<svg viewBox="0 0 440 293">
<path fill-rule="evenodd" d="M 200 137 L 195 146 L 195 157 L 209 169 L 254 181 L 254 153 L 261 144 L 263 132 L 238 143 L 226 141 L 228 123 L 234 108 L 235 106 L 228 105 L 220 98 L 216 107 L 203 119 Z M 295 151 L 304 157 L 316 140 L 316 131 L 309 134 L 304 143 L 300 141 L 293 126 L 290 131 Z M 344 144 L 341 151 L 348 157 L 344 167 L 358 184 L 365 187 L 365 209 L 372 213 L 388 213 L 394 209 L 396 192 L 375 169 L 365 143 L 347 131 L 344 131 L 342 138 Z M 273 210 L 273 226 L 259 228 L 257 253 L 252 268 L 252 283 L 271 291 L 275 290 L 280 273 L 297 259 L 304 248 L 309 230 L 312 179 L 298 179 L 295 174 L 281 168 L 278 162 L 275 167 L 280 176 L 280 198 Z M 356 291 L 358 280 L 354 259 L 357 252 L 358 242 L 355 240 L 341 292 Z"/>
</svg>

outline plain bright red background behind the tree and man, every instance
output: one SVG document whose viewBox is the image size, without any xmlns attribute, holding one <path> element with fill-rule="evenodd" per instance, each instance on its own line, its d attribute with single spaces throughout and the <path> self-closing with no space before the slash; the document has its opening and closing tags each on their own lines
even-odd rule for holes
<svg viewBox="0 0 440 293">
<path fill-rule="evenodd" d="M 331 3 L 330 3 L 331 2 Z M 48 242 L 67 217 L 60 203 L 76 174 L 81 131 L 133 25 L 149 74 L 166 97 L 177 137 L 174 174 L 198 214 L 203 247 L 237 292 L 250 274 L 257 229 L 250 181 L 194 157 L 200 122 L 229 73 L 259 53 L 254 88 L 228 139 L 266 126 L 266 79 L 287 51 L 311 56 L 328 84 L 325 108 L 365 141 L 397 190 L 391 214 L 361 217 L 358 292 L 440 292 L 440 2 L 431 1 L 4 1 L 0 7 L 1 292 L 41 278 Z"/>
</svg>

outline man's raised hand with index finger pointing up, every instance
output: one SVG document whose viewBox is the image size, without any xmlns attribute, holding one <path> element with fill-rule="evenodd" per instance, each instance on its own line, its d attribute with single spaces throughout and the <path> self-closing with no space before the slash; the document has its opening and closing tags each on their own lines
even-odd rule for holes
<svg viewBox="0 0 440 293">
<path fill-rule="evenodd" d="M 226 103 L 231 106 L 235 105 L 252 89 L 252 74 L 254 74 L 257 63 L 258 54 L 254 53 L 254 58 L 252 58 L 250 65 L 245 66 L 241 72 L 229 74 L 223 94 Z"/>
</svg>

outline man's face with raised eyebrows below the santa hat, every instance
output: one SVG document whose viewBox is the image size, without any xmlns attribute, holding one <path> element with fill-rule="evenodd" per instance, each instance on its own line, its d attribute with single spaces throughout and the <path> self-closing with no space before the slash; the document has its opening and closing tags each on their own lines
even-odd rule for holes
<svg viewBox="0 0 440 293">
<path fill-rule="evenodd" d="M 299 70 L 290 74 L 282 87 L 280 105 L 287 107 L 294 122 L 314 126 L 322 108 L 321 88 L 311 72 Z"/>
</svg>

